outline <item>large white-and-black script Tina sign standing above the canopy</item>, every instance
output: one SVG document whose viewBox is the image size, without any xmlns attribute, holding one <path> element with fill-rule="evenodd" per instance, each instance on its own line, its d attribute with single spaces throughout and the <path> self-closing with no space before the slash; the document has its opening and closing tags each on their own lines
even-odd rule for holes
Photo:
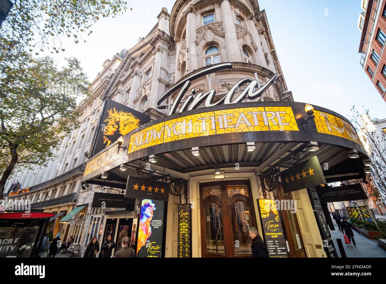
<svg viewBox="0 0 386 284">
<path fill-rule="evenodd" d="M 176 90 L 181 88 L 179 90 L 176 99 L 173 102 L 173 105 L 171 106 L 171 109 L 169 111 L 169 116 L 171 114 L 176 113 L 178 105 L 181 103 L 182 98 L 184 97 L 185 93 L 188 91 L 191 81 L 195 80 L 196 78 L 202 77 L 204 75 L 207 75 L 209 73 L 213 73 L 216 71 L 224 70 L 224 69 L 229 69 L 232 68 L 232 63 L 221 63 L 218 65 L 213 65 L 208 68 L 205 68 L 202 71 L 199 71 L 190 77 L 186 78 L 185 80 L 182 80 L 181 82 L 177 83 L 174 85 L 172 88 L 170 88 L 168 91 L 166 91 L 165 94 L 163 94 L 156 102 L 156 106 L 159 109 L 166 109 L 166 105 L 161 105 L 164 100 L 166 100 L 169 96 L 171 96 Z M 235 104 L 238 102 L 242 102 L 242 100 L 245 99 L 245 97 L 248 97 L 248 99 L 253 100 L 261 96 L 271 85 L 273 82 L 276 81 L 278 78 L 278 74 L 275 74 L 267 83 L 262 85 L 259 88 L 259 82 L 257 80 L 252 80 L 251 78 L 244 78 L 241 79 L 239 82 L 235 83 L 233 87 L 229 90 L 227 95 L 225 95 L 222 99 L 218 100 L 215 103 L 212 103 L 213 98 L 216 95 L 215 89 L 209 90 L 208 92 L 205 93 L 198 93 L 196 94 L 195 89 L 191 89 L 192 94 L 189 95 L 181 108 L 179 109 L 179 112 L 183 111 L 190 111 L 192 109 L 196 109 L 204 100 L 205 100 L 205 107 L 212 107 L 214 105 L 220 105 L 220 104 Z M 246 84 L 247 87 L 241 92 L 241 94 L 233 99 L 234 95 L 236 92 L 238 92 L 239 88 Z M 257 90 L 255 90 L 258 88 Z"/>
</svg>

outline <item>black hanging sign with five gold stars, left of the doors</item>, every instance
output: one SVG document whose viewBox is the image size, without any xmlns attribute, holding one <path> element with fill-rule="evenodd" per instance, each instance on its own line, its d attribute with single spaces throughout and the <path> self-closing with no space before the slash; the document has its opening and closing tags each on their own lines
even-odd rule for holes
<svg viewBox="0 0 386 284">
<path fill-rule="evenodd" d="M 125 197 L 168 201 L 169 189 L 167 182 L 129 176 Z"/>
</svg>

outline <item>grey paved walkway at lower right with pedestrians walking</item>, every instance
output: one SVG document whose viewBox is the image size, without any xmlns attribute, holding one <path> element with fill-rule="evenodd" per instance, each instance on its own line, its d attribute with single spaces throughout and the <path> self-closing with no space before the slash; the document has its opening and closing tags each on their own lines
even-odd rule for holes
<svg viewBox="0 0 386 284">
<path fill-rule="evenodd" d="M 343 233 L 339 231 L 338 225 L 336 224 L 335 220 L 332 220 L 332 222 L 334 223 L 335 231 L 330 230 L 330 232 L 332 240 L 334 240 L 335 249 L 337 250 L 339 257 L 341 256 L 337 244 L 337 238 L 340 238 L 342 240 L 347 257 L 386 257 L 386 250 L 380 247 L 376 240 L 370 240 L 366 236 L 359 234 L 354 229 L 352 231 L 354 232 L 354 240 L 357 246 L 354 247 L 352 242 L 350 245 L 347 245 L 344 242 Z"/>
</svg>

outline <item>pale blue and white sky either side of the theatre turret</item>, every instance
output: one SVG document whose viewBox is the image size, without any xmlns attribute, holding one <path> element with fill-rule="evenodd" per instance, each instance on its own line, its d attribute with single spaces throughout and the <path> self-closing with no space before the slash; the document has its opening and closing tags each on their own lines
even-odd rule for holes
<svg viewBox="0 0 386 284">
<path fill-rule="evenodd" d="M 90 36 L 80 43 L 63 38 L 64 57 L 81 61 L 90 82 L 102 71 L 102 63 L 121 49 L 129 49 L 157 23 L 162 7 L 168 12 L 174 0 L 131 0 L 132 11 L 93 24 Z M 372 118 L 386 118 L 386 102 L 359 64 L 361 32 L 357 28 L 361 0 L 260 0 L 283 75 L 293 98 L 338 112 L 350 118 L 352 106 L 368 108 Z M 364 107 L 364 108 L 362 108 Z"/>
</svg>

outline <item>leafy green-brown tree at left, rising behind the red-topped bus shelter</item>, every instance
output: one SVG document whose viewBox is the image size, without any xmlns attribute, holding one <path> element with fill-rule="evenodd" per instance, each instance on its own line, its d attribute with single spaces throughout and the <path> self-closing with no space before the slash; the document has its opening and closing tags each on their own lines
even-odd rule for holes
<svg viewBox="0 0 386 284">
<path fill-rule="evenodd" d="M 66 60 L 59 69 L 50 57 L 29 57 L 0 78 L 0 199 L 14 170 L 46 165 L 79 124 L 76 100 L 90 83 L 76 58 Z"/>
</svg>

